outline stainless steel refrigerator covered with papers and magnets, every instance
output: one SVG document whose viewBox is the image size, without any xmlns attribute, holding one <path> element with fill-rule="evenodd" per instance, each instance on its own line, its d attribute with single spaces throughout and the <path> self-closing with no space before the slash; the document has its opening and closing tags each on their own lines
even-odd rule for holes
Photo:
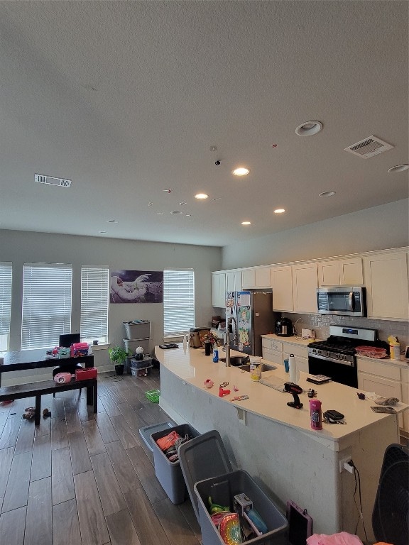
<svg viewBox="0 0 409 545">
<path fill-rule="evenodd" d="M 227 292 L 226 327 L 230 324 L 232 350 L 261 356 L 261 335 L 273 333 L 275 322 L 271 292 Z"/>
</svg>

